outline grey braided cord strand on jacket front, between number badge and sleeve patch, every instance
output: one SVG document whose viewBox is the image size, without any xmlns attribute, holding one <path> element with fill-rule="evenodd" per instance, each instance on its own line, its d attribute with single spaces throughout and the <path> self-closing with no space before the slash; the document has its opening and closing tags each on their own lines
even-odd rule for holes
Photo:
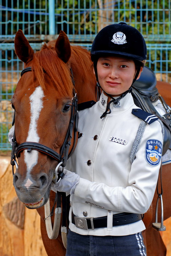
<svg viewBox="0 0 171 256">
<path fill-rule="evenodd" d="M 138 146 L 140 145 L 140 142 L 141 142 L 141 139 L 143 137 L 146 125 L 147 125 L 147 123 L 145 121 L 141 121 L 141 123 L 138 127 L 136 137 L 135 137 L 135 139 L 132 143 L 132 149 L 131 149 L 131 153 L 130 153 L 130 156 L 129 156 L 131 164 L 133 163 L 133 160 L 135 158 L 135 154 L 137 152 Z"/>
</svg>

